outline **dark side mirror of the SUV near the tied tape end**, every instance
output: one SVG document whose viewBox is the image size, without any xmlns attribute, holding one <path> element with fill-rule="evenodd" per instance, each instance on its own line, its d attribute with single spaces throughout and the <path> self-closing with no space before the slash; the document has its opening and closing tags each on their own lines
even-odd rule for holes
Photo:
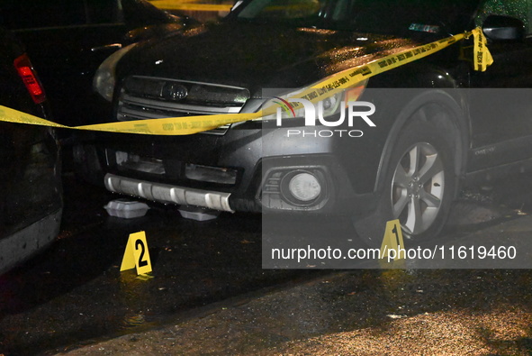
<svg viewBox="0 0 532 356">
<path fill-rule="evenodd" d="M 509 16 L 488 16 L 482 23 L 482 31 L 491 41 L 523 41 L 525 38 L 525 24 Z"/>
</svg>

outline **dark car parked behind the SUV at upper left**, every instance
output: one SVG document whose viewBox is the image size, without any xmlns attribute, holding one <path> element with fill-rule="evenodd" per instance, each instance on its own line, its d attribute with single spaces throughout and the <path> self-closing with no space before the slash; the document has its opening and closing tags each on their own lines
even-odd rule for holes
<svg viewBox="0 0 532 356">
<path fill-rule="evenodd" d="M 144 0 L 0 0 L 0 26 L 23 41 L 59 123 L 97 122 L 92 79 L 100 63 L 131 42 L 192 20 Z"/>
</svg>

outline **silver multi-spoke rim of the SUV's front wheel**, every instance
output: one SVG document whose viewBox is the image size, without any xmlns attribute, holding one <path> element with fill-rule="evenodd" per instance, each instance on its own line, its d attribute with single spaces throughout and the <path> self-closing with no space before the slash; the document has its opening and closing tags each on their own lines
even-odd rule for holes
<svg viewBox="0 0 532 356">
<path fill-rule="evenodd" d="M 405 233 L 423 233 L 434 223 L 444 188 L 443 161 L 430 143 L 416 143 L 401 156 L 392 179 L 392 214 Z"/>
</svg>

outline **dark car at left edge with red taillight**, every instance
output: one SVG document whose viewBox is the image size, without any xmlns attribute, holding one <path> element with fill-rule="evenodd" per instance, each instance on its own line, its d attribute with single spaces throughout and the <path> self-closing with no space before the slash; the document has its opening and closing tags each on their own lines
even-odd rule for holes
<svg viewBox="0 0 532 356">
<path fill-rule="evenodd" d="M 0 105 L 51 120 L 32 62 L 0 28 Z M 2 115 L 5 111 L 0 108 Z M 0 273 L 58 236 L 62 214 L 59 143 L 48 127 L 0 122 Z"/>
</svg>

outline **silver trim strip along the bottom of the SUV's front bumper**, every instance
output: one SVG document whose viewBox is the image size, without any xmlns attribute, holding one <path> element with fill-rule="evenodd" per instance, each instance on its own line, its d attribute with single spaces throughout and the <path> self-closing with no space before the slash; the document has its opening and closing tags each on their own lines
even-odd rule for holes
<svg viewBox="0 0 532 356">
<path fill-rule="evenodd" d="M 106 174 L 105 187 L 115 193 L 140 196 L 159 203 L 177 205 L 196 205 L 209 209 L 234 213 L 230 208 L 230 193 L 213 192 L 189 187 L 176 187 L 168 184 L 147 182 L 144 180 Z"/>
</svg>

